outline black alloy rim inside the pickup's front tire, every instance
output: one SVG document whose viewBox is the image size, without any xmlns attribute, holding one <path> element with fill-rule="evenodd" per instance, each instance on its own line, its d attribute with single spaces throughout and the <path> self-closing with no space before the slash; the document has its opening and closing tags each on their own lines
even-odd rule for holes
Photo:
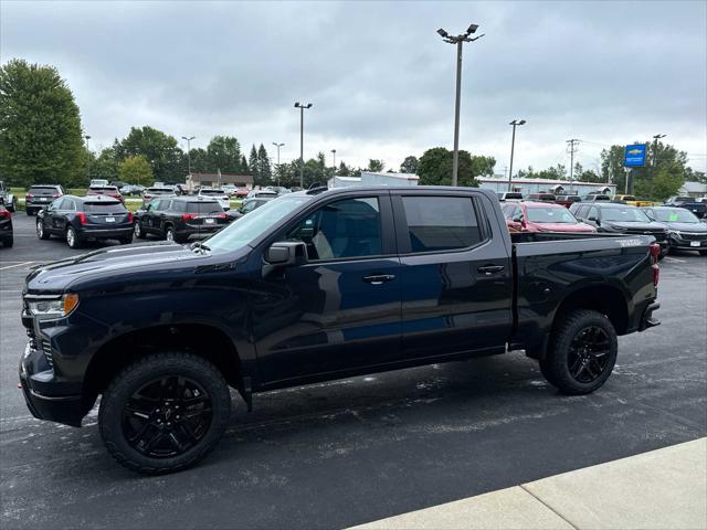
<svg viewBox="0 0 707 530">
<path fill-rule="evenodd" d="M 123 409 L 123 435 L 150 458 L 179 456 L 194 447 L 213 421 L 209 393 L 179 375 L 152 380 L 135 392 Z"/>
</svg>

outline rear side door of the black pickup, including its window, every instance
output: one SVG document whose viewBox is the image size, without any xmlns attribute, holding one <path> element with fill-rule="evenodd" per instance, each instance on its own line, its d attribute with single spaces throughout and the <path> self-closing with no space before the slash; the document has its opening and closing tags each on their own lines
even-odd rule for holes
<svg viewBox="0 0 707 530">
<path fill-rule="evenodd" d="M 503 352 L 513 322 L 513 275 L 485 195 L 393 192 L 407 359 Z"/>
</svg>

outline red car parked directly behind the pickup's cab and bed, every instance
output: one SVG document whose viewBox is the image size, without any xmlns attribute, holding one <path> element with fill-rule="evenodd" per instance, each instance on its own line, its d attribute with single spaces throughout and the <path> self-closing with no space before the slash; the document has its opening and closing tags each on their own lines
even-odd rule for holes
<svg viewBox="0 0 707 530">
<path fill-rule="evenodd" d="M 516 202 L 505 204 L 503 212 L 510 232 L 597 232 L 561 204 Z"/>
</svg>

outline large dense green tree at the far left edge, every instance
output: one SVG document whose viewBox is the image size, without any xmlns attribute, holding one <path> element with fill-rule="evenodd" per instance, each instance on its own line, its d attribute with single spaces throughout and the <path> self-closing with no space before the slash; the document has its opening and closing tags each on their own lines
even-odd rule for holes
<svg viewBox="0 0 707 530">
<path fill-rule="evenodd" d="M 68 184 L 85 169 L 83 149 L 78 106 L 59 71 L 21 59 L 0 66 L 3 176 L 23 187 Z"/>
</svg>

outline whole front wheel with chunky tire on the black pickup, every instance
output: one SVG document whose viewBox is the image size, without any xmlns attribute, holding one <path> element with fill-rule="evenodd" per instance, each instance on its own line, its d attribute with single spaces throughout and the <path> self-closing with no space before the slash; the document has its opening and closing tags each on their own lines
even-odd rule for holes
<svg viewBox="0 0 707 530">
<path fill-rule="evenodd" d="M 179 400 L 183 396 L 198 401 L 184 405 Z M 192 407 L 190 420 L 180 417 L 179 411 L 188 407 Z M 119 464 L 157 475 L 204 458 L 223 436 L 230 415 L 229 386 L 213 364 L 190 353 L 165 352 L 137 360 L 110 382 L 101 400 L 98 427 Z"/>
</svg>

